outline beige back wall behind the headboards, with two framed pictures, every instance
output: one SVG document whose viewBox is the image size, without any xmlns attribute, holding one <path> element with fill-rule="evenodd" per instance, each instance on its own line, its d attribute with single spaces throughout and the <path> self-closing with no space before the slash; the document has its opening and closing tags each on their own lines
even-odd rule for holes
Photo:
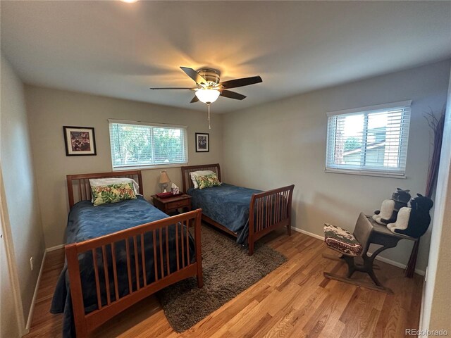
<svg viewBox="0 0 451 338">
<path fill-rule="evenodd" d="M 111 171 L 107 119 L 140 120 L 188 126 L 189 164 L 221 163 L 222 116 L 212 115 L 208 128 L 206 111 L 156 106 L 41 87 L 25 87 L 30 116 L 32 149 L 47 247 L 63 244 L 68 215 L 66 175 Z M 178 93 L 180 94 L 180 93 Z M 63 125 L 94 127 L 97 156 L 66 156 Z M 210 152 L 196 153 L 194 133 L 209 132 Z M 144 196 L 160 192 L 161 169 L 144 170 Z M 181 187 L 180 168 L 168 168 L 171 180 Z"/>
</svg>

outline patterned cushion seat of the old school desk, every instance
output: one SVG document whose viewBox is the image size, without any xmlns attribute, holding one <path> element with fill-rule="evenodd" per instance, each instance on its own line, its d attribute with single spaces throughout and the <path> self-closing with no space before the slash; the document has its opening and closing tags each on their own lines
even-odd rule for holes
<svg viewBox="0 0 451 338">
<path fill-rule="evenodd" d="M 327 223 L 324 224 L 324 242 L 330 249 L 347 256 L 360 256 L 363 249 L 352 233 Z"/>
</svg>

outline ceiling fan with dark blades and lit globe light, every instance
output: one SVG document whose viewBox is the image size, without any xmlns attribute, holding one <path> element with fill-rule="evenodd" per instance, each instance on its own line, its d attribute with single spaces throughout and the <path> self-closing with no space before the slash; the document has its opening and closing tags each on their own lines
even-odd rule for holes
<svg viewBox="0 0 451 338">
<path fill-rule="evenodd" d="M 221 72 L 213 68 L 201 68 L 194 70 L 188 67 L 180 67 L 186 75 L 196 82 L 196 87 L 166 87 L 166 88 L 150 88 L 150 89 L 187 89 L 194 91 L 194 97 L 190 103 L 201 101 L 207 105 L 208 120 L 210 123 L 210 104 L 212 104 L 219 96 L 227 97 L 228 99 L 242 100 L 246 96 L 232 92 L 232 88 L 245 87 L 250 84 L 263 82 L 261 77 L 243 77 L 241 79 L 228 80 L 220 82 Z M 209 129 L 211 129 L 209 125 Z"/>
</svg>

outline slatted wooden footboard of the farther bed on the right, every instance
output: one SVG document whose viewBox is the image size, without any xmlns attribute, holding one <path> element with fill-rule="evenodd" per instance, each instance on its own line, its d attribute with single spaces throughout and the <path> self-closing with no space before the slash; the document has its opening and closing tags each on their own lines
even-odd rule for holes
<svg viewBox="0 0 451 338">
<path fill-rule="evenodd" d="M 277 227 L 287 227 L 291 234 L 291 201 L 295 185 L 253 194 L 249 206 L 249 256 L 254 253 L 254 243 Z M 252 217 L 254 215 L 254 217 Z"/>
</svg>

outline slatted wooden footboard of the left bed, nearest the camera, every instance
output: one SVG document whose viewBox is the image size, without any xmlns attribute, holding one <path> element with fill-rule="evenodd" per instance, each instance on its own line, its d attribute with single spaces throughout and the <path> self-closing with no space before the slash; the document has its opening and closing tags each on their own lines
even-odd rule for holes
<svg viewBox="0 0 451 338">
<path fill-rule="evenodd" d="M 197 284 L 202 287 L 202 255 L 201 255 L 201 215 L 197 209 L 170 218 L 163 218 L 152 223 L 138 225 L 130 229 L 89 239 L 85 242 L 66 245 L 66 258 L 70 280 L 70 296 L 73 304 L 75 330 L 77 337 L 86 337 L 87 333 L 98 327 L 114 315 L 121 313 L 137 301 L 154 294 L 179 280 L 197 276 Z M 175 225 L 175 252 L 177 266 L 170 269 L 170 250 L 168 243 L 168 227 Z M 189 236 L 190 227 L 194 226 L 195 261 L 191 263 Z M 186 231 L 183 231 L 185 227 Z M 179 234 L 180 229 L 180 236 Z M 185 236 L 184 236 L 185 233 Z M 144 234 L 147 239 L 153 239 L 154 268 L 152 281 L 147 280 L 146 259 L 149 253 L 144 253 Z M 179 238 L 180 237 L 180 238 Z M 157 240 L 158 239 L 158 240 Z M 122 295 L 118 287 L 118 272 L 115 245 L 125 242 L 126 262 L 128 271 L 128 294 Z M 95 286 L 97 293 L 97 309 L 85 313 L 83 302 L 82 281 L 80 278 L 79 255 L 92 255 Z M 137 258 L 137 259 L 135 259 Z M 174 258 L 174 257 L 172 257 Z M 111 264 L 109 265 L 109 262 Z M 133 263 L 134 262 L 134 263 Z M 166 263 L 163 263 L 166 262 Z M 136 275 L 132 274 L 132 270 Z M 99 276 L 101 278 L 99 278 Z M 135 283 L 132 283 L 135 278 Z M 112 280 L 111 280 L 112 279 Z"/>
</svg>

